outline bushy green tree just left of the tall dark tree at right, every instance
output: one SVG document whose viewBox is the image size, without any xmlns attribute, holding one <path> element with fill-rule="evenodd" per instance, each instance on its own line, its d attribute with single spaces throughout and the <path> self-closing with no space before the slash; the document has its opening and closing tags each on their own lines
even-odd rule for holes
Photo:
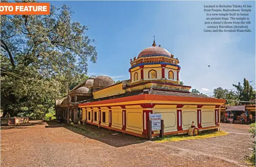
<svg viewBox="0 0 256 167">
<path fill-rule="evenodd" d="M 222 87 L 218 87 L 213 90 L 213 97 L 218 99 L 229 99 L 229 100 L 237 100 L 238 95 L 233 90 L 223 89 Z M 233 102 L 227 100 L 226 104 L 229 105 L 237 105 L 238 102 Z"/>
</svg>

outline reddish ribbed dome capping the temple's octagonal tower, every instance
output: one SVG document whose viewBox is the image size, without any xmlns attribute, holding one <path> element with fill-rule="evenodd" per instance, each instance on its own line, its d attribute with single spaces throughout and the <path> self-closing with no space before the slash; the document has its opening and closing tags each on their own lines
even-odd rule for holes
<svg viewBox="0 0 256 167">
<path fill-rule="evenodd" d="M 147 56 L 166 56 L 171 57 L 172 55 L 166 49 L 160 46 L 151 46 L 142 50 L 137 59 Z"/>
</svg>

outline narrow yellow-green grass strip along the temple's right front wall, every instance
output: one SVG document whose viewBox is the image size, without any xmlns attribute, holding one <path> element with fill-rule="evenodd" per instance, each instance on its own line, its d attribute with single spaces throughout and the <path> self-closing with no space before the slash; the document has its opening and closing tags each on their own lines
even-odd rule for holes
<svg viewBox="0 0 256 167">
<path fill-rule="evenodd" d="M 199 133 L 197 136 L 188 136 L 186 135 L 169 135 L 165 136 L 163 138 L 155 138 L 153 139 L 157 143 L 163 143 L 163 142 L 179 142 L 181 140 L 196 140 L 196 139 L 207 139 L 217 136 L 225 136 L 227 135 L 227 132 L 224 131 L 216 131 L 216 132 L 209 132 L 209 133 Z"/>
</svg>

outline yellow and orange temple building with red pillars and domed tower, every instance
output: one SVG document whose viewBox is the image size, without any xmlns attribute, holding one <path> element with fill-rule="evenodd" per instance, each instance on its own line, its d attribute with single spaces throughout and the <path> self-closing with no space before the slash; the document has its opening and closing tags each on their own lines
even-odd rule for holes
<svg viewBox="0 0 256 167">
<path fill-rule="evenodd" d="M 129 80 L 105 84 L 96 82 L 96 77 L 89 90 L 84 88 L 78 94 L 78 89 L 87 87 L 83 83 L 70 91 L 82 122 L 143 138 L 148 138 L 150 114 L 162 115 L 164 135 L 187 133 L 192 122 L 199 131 L 219 129 L 220 105 L 226 101 L 191 94 L 191 86 L 180 85 L 179 60 L 155 40 L 130 64 Z M 83 97 L 82 102 L 76 101 L 78 96 Z M 58 107 L 61 105 L 67 106 Z M 152 131 L 152 137 L 159 134 L 159 130 Z"/>
</svg>

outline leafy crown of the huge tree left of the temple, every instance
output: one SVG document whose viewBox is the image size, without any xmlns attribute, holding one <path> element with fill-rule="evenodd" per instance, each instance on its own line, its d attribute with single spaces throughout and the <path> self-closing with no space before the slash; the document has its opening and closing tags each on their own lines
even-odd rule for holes
<svg viewBox="0 0 256 167">
<path fill-rule="evenodd" d="M 85 34 L 88 27 L 72 21 L 72 14 L 67 5 L 51 5 L 49 15 L 1 16 L 4 112 L 44 117 L 67 94 L 67 82 L 72 88 L 87 78 L 88 59 L 95 63 L 97 52 Z"/>
</svg>

